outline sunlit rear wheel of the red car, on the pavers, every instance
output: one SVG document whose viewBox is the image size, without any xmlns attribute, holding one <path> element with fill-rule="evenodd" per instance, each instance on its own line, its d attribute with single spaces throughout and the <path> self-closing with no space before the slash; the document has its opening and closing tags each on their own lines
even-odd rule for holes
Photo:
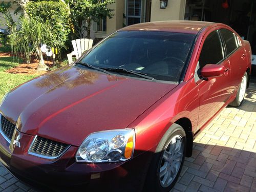
<svg viewBox="0 0 256 192">
<path fill-rule="evenodd" d="M 246 92 L 247 79 L 248 79 L 248 76 L 247 76 L 247 73 L 245 72 L 245 74 L 242 78 L 242 81 L 240 83 L 240 87 L 237 92 L 237 96 L 231 103 L 229 103 L 230 106 L 240 106 L 242 104 L 242 102 L 244 100 L 245 92 Z"/>
</svg>

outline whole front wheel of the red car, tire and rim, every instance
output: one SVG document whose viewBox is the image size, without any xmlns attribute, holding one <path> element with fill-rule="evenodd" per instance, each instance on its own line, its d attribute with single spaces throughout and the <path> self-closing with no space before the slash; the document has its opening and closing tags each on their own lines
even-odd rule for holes
<svg viewBox="0 0 256 192">
<path fill-rule="evenodd" d="M 178 124 L 173 124 L 164 134 L 153 156 L 145 183 L 145 191 L 170 191 L 184 162 L 186 134 Z"/>
</svg>

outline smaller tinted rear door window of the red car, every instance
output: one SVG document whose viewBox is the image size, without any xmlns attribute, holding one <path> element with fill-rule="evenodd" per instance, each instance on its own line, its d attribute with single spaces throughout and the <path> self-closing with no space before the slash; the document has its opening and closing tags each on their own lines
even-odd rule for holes
<svg viewBox="0 0 256 192">
<path fill-rule="evenodd" d="M 233 50 L 238 48 L 236 35 L 227 29 L 220 29 L 220 31 L 226 43 L 227 54 L 229 55 Z"/>
</svg>

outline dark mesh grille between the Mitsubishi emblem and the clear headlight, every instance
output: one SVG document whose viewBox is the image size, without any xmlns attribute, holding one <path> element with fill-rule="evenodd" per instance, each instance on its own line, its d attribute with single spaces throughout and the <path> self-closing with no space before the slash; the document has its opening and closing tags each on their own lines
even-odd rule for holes
<svg viewBox="0 0 256 192">
<path fill-rule="evenodd" d="M 30 151 L 33 154 L 38 154 L 39 156 L 45 156 L 56 158 L 60 156 L 70 145 L 65 143 L 60 143 L 57 141 L 53 141 L 51 139 L 46 139 L 43 137 L 36 136 L 33 141 Z"/>
</svg>

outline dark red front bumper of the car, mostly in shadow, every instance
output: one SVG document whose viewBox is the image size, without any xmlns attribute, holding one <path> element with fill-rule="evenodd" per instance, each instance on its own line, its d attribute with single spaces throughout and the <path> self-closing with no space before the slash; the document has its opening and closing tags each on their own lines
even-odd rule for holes
<svg viewBox="0 0 256 192">
<path fill-rule="evenodd" d="M 20 147 L 13 144 L 18 135 Z M 143 187 L 151 153 L 120 163 L 77 163 L 77 147 L 71 146 L 58 159 L 50 160 L 28 154 L 34 137 L 15 129 L 9 143 L 0 135 L 0 160 L 16 178 L 37 189 L 138 191 Z"/>
</svg>

